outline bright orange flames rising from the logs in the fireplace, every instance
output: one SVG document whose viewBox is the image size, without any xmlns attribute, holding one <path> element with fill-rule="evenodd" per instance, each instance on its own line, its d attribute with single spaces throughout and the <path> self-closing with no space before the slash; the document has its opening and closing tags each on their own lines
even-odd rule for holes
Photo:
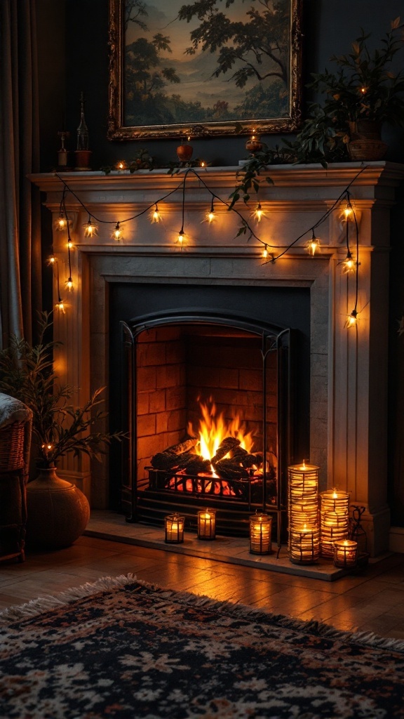
<svg viewBox="0 0 404 719">
<path fill-rule="evenodd" d="M 254 440 L 252 433 L 246 432 L 244 423 L 242 423 L 239 415 L 230 421 L 226 421 L 223 413 L 216 416 L 216 404 L 213 400 L 208 403 L 199 403 L 201 407 L 202 418 L 199 420 L 198 430 L 195 431 L 191 423 L 188 424 L 188 433 L 192 436 L 199 435 L 199 442 L 196 445 L 196 454 L 200 454 L 203 459 L 212 459 L 221 442 L 226 437 L 236 437 L 240 441 L 240 446 L 251 452 Z"/>
</svg>

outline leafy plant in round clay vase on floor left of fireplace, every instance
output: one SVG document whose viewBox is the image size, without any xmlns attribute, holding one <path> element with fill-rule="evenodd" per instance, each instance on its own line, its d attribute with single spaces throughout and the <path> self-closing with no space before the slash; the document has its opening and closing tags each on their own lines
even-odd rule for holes
<svg viewBox="0 0 404 719">
<path fill-rule="evenodd" d="M 45 342 L 52 324 L 50 315 L 40 313 L 39 342 L 10 338 L 0 351 L 0 392 L 21 400 L 32 410 L 32 450 L 39 475 L 27 485 L 27 541 L 41 546 L 68 546 L 83 532 L 89 518 L 85 495 L 56 474 L 60 457 L 73 453 L 99 459 L 114 434 L 95 431 L 106 417 L 101 410 L 102 388 L 81 407 L 70 403 L 74 390 L 58 384 L 53 351 L 58 342 Z"/>
</svg>

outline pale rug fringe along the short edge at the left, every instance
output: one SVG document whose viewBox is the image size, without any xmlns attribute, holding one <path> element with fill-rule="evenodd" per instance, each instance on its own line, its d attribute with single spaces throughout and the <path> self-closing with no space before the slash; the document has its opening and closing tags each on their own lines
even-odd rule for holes
<svg viewBox="0 0 404 719">
<path fill-rule="evenodd" d="M 45 595 L 32 599 L 26 604 L 9 607 L 0 612 L 0 622 L 9 624 L 29 617 L 34 617 L 42 612 L 71 604 L 83 597 L 90 597 L 98 592 L 106 592 L 117 587 L 124 587 L 127 584 L 136 582 L 136 574 L 120 574 L 119 577 L 100 577 L 96 582 L 86 582 L 80 587 L 71 587 L 64 592 L 55 595 Z"/>
</svg>

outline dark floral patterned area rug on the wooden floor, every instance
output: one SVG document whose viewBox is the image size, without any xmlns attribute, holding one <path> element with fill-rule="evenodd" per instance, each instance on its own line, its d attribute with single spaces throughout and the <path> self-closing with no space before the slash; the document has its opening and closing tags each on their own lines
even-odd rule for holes
<svg viewBox="0 0 404 719">
<path fill-rule="evenodd" d="M 392 719 L 403 686 L 403 642 L 133 575 L 0 615 L 2 719 Z"/>
</svg>

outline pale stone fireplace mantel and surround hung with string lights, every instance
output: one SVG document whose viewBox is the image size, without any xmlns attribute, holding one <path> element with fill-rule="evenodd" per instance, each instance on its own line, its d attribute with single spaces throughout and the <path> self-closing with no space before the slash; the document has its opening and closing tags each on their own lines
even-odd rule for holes
<svg viewBox="0 0 404 719">
<path fill-rule="evenodd" d="M 67 238 L 55 229 L 60 295 L 66 311 L 55 314 L 55 339 L 62 342 L 56 359 L 60 380 L 78 389 L 78 403 L 88 393 L 109 385 L 109 288 L 111 283 L 176 283 L 183 285 L 249 285 L 310 289 L 310 459 L 321 467 L 321 490 L 339 487 L 351 503 L 363 505 L 372 554 L 388 547 L 387 506 L 387 315 L 390 207 L 404 166 L 390 162 L 330 165 L 284 165 L 268 168 L 273 185 L 262 181 L 260 203 L 265 219 L 249 218 L 257 201 L 237 209 L 258 236 L 279 254 L 303 237 L 275 264 L 262 260 L 262 245 L 237 237 L 239 217 L 215 200 L 216 221 L 203 217 L 211 194 L 229 203 L 239 168 L 196 168 L 201 180 L 188 175 L 183 203 L 181 173 L 141 170 L 111 173 L 61 173 L 68 186 L 65 208 L 73 240 L 73 291 L 67 293 Z M 358 175 L 359 170 L 362 172 Z M 358 176 L 357 176 L 358 175 Z M 55 173 L 31 175 L 45 193 L 54 221 L 60 213 L 63 183 Z M 355 179 L 356 178 L 356 179 Z M 330 212 L 316 235 L 321 253 L 308 255 L 311 229 L 330 211 L 349 186 L 359 222 L 359 294 L 357 328 L 346 329 L 354 307 L 355 283 L 341 272 L 346 257 L 341 206 Z M 165 201 L 160 198 L 170 193 Z M 151 224 L 149 211 L 159 201 L 162 221 Z M 123 224 L 124 239 L 111 239 L 116 221 L 143 213 Z M 98 237 L 84 237 L 83 225 L 93 218 Z M 184 219 L 181 251 L 178 231 Z M 355 239 L 352 234 L 352 249 Z M 274 251 L 270 248 L 270 252 Z M 55 303 L 58 293 L 55 285 Z M 106 397 L 108 394 L 106 394 Z M 68 457 L 64 475 L 90 497 L 94 508 L 108 508 L 109 467 L 106 459 L 92 466 L 86 458 Z"/>
</svg>

